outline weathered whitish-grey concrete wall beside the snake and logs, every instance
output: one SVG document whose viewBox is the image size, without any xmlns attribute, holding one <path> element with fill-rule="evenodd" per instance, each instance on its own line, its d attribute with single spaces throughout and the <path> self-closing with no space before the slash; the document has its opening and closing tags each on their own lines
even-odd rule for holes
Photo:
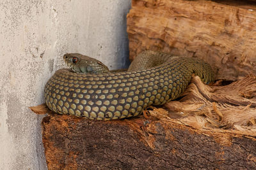
<svg viewBox="0 0 256 170">
<path fill-rule="evenodd" d="M 46 169 L 40 123 L 46 81 L 79 52 L 128 64 L 129 0 L 0 1 L 0 169 Z"/>
</svg>

